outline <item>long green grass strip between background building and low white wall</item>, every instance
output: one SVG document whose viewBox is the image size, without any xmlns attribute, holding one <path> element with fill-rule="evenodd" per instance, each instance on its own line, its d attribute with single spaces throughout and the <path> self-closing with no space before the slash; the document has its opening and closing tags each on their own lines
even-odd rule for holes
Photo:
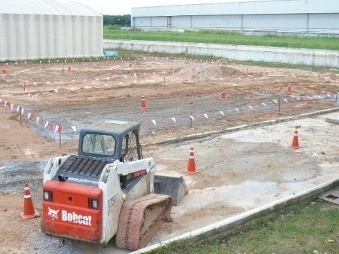
<svg viewBox="0 0 339 254">
<path fill-rule="evenodd" d="M 205 42 L 232 45 L 277 46 L 290 48 L 320 48 L 339 50 L 339 37 L 297 37 L 280 35 L 243 35 L 221 30 L 186 30 L 179 32 L 120 30 L 105 27 L 106 39 L 139 39 L 166 42 Z"/>
</svg>

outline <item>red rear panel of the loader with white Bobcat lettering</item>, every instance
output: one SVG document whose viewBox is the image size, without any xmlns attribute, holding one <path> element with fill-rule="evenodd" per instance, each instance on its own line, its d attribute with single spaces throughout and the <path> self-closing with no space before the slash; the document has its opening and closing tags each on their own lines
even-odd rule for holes
<svg viewBox="0 0 339 254">
<path fill-rule="evenodd" d="M 101 242 L 103 192 L 96 186 L 46 181 L 42 229 L 49 234 Z"/>
</svg>

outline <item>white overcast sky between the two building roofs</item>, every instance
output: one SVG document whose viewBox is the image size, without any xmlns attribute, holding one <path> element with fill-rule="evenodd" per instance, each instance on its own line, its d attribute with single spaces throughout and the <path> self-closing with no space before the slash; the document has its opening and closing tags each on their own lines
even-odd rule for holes
<svg viewBox="0 0 339 254">
<path fill-rule="evenodd" d="M 1 0 L 0 0 L 1 1 Z M 166 6 L 171 4 L 186 4 L 186 3 L 225 3 L 239 0 L 67 0 L 78 1 L 92 6 L 102 14 L 123 15 L 130 14 L 130 8 L 140 6 Z M 254 0 L 247 0 L 254 1 Z"/>
</svg>

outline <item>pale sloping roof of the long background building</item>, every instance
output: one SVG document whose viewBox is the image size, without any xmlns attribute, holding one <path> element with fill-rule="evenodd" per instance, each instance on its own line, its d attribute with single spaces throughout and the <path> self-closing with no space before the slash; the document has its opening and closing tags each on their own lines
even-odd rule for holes
<svg viewBox="0 0 339 254">
<path fill-rule="evenodd" d="M 132 17 L 298 13 L 339 13 L 338 0 L 261 0 L 132 8 Z"/>
</svg>

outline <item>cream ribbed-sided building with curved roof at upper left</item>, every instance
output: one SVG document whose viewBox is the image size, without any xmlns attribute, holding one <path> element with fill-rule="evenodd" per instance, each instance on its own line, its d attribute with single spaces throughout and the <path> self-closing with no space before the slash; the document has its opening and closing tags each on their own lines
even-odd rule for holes
<svg viewBox="0 0 339 254">
<path fill-rule="evenodd" d="M 0 60 L 103 55 L 103 16 L 82 3 L 0 0 Z"/>
</svg>

